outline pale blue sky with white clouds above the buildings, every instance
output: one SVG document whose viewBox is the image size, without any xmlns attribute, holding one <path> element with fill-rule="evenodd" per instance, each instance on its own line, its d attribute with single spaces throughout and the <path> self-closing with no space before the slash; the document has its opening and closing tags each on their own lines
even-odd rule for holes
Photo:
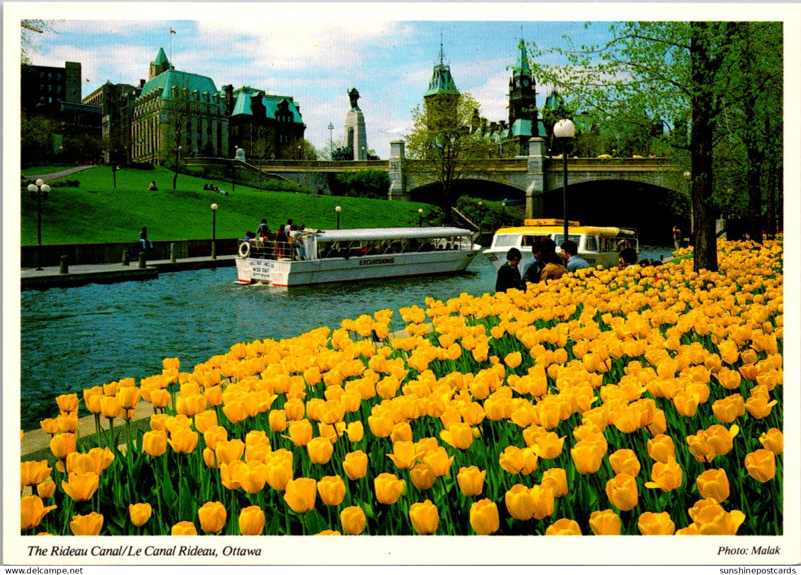
<svg viewBox="0 0 801 575">
<path fill-rule="evenodd" d="M 207 75 L 218 90 L 233 84 L 292 96 L 300 103 L 306 139 L 317 148 L 328 148 L 331 135 L 335 147 L 343 139 L 347 91 L 356 87 L 368 147 L 386 159 L 389 142 L 412 126 L 411 111 L 428 89 L 441 41 L 458 89 L 473 94 L 492 122 L 508 119 L 507 66 L 517 58 L 520 38 L 553 46 L 562 34 L 591 42 L 608 29 L 598 23 L 587 31 L 583 22 L 354 22 L 345 14 L 318 21 L 304 19 L 305 6 L 311 5 L 251 20 L 52 21 L 56 33 L 36 38 L 31 59 L 40 66 L 81 62 L 85 97 L 107 80 L 136 85 L 147 79 L 148 65 L 163 47 L 177 70 Z M 547 90 L 538 88 L 539 105 Z"/>
</svg>

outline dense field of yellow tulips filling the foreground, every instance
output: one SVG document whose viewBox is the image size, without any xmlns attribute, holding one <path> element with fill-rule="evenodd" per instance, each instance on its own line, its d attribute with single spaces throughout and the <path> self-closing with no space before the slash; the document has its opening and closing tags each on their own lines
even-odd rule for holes
<svg viewBox="0 0 801 575">
<path fill-rule="evenodd" d="M 718 250 L 58 396 L 22 533 L 781 534 L 782 243 Z"/>
</svg>

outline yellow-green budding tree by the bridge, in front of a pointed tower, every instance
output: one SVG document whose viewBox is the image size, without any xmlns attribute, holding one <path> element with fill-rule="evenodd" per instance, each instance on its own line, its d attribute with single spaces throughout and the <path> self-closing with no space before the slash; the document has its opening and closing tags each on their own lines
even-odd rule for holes
<svg viewBox="0 0 801 575">
<path fill-rule="evenodd" d="M 406 135 L 407 171 L 441 186 L 445 223 L 453 220 L 458 183 L 469 174 L 488 175 L 486 159 L 496 145 L 470 129 L 479 104 L 470 94 L 447 94 L 412 111 L 414 126 Z"/>
</svg>

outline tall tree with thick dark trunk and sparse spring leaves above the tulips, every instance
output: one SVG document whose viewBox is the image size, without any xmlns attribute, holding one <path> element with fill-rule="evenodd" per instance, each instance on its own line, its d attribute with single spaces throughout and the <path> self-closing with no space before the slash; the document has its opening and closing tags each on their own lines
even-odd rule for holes
<svg viewBox="0 0 801 575">
<path fill-rule="evenodd" d="M 610 26 L 610 37 L 602 46 L 570 44 L 567 49 L 552 50 L 534 46 L 535 57 L 557 52 L 568 62 L 549 67 L 533 64 L 534 74 L 541 83 L 570 94 L 576 109 L 598 118 L 623 122 L 646 116 L 687 119 L 683 127 L 689 125 L 689 139 L 682 133 L 667 140 L 673 143 L 672 149 L 688 152 L 675 159 L 686 157 L 690 172 L 694 267 L 717 271 L 714 143 L 731 99 L 733 70 L 743 57 L 739 24 L 620 22 Z"/>
</svg>

